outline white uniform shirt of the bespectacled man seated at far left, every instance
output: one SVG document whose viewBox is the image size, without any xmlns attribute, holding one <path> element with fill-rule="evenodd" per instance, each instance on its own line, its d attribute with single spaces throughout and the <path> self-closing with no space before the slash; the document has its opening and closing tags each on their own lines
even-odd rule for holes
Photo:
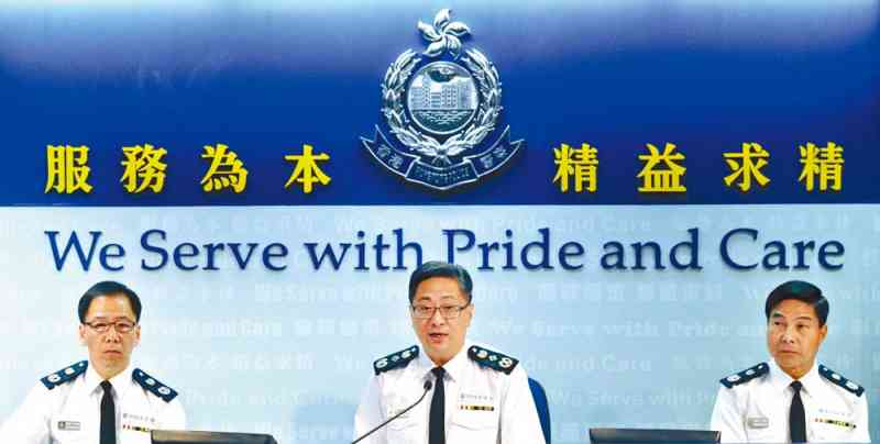
<svg viewBox="0 0 880 444">
<path fill-rule="evenodd" d="M 73 368 L 73 367 L 72 367 Z M 110 379 L 117 408 L 119 444 L 150 444 L 153 429 L 182 430 L 184 408 L 177 398 L 166 402 L 133 379 L 129 367 Z M 38 382 L 0 430 L 0 443 L 96 444 L 101 424 L 103 379 L 88 369 L 52 390 Z"/>
</svg>

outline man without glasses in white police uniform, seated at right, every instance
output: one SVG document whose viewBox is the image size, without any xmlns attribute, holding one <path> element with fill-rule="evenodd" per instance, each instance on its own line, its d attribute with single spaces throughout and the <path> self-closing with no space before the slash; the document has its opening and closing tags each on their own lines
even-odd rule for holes
<svg viewBox="0 0 880 444">
<path fill-rule="evenodd" d="M 773 360 L 721 380 L 712 429 L 723 442 L 870 442 L 865 389 L 816 364 L 828 333 L 828 300 L 792 280 L 765 303 Z"/>
</svg>

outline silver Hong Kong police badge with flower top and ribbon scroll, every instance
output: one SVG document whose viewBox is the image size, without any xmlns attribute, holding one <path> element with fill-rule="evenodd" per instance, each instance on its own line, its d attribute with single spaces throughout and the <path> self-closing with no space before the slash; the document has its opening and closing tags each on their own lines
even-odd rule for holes
<svg viewBox="0 0 880 444">
<path fill-rule="evenodd" d="M 502 82 L 488 58 L 464 49 L 471 30 L 441 10 L 433 25 L 419 22 L 429 42 L 421 54 L 407 49 L 382 81 L 382 114 L 374 140 L 361 137 L 382 165 L 406 180 L 437 190 L 474 182 L 510 160 L 522 141 L 497 126 Z M 388 137 L 388 134 L 394 137 Z"/>
</svg>

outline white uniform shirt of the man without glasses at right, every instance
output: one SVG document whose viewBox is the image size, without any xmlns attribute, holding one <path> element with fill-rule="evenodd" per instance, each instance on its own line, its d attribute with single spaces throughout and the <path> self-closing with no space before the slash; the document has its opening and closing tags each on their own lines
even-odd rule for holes
<svg viewBox="0 0 880 444">
<path fill-rule="evenodd" d="M 722 386 L 712 412 L 712 430 L 725 443 L 788 443 L 793 379 L 774 362 L 762 364 L 769 371 L 751 380 Z M 752 367 L 757 368 L 757 367 Z M 744 374 L 740 374 L 745 376 Z M 837 375 L 837 374 L 834 374 Z M 843 384 L 846 379 L 837 375 Z M 737 376 L 732 376 L 738 379 Z M 735 382 L 732 379 L 730 382 Z M 800 379 L 801 400 L 811 443 L 869 443 L 867 395 L 856 393 L 820 375 L 816 365 Z M 850 387 L 857 388 L 850 382 Z"/>
</svg>

